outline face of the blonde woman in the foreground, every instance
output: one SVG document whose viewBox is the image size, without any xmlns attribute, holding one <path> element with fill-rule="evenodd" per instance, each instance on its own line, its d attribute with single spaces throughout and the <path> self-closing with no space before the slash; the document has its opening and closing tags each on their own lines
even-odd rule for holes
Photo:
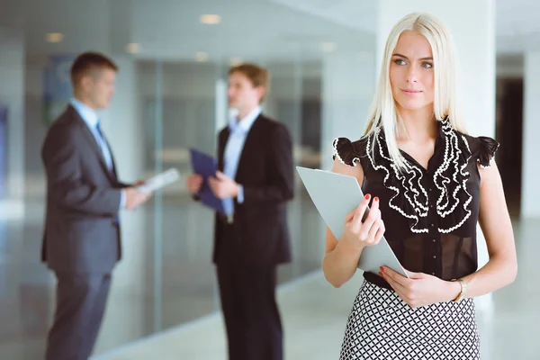
<svg viewBox="0 0 540 360">
<path fill-rule="evenodd" d="M 392 54 L 390 84 L 399 110 L 433 107 L 433 54 L 428 40 L 422 35 L 413 31 L 401 33 Z"/>
</svg>

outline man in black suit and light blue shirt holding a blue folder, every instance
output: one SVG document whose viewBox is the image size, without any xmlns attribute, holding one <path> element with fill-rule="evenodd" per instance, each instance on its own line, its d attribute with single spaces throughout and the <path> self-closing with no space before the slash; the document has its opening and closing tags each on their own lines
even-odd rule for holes
<svg viewBox="0 0 540 360">
<path fill-rule="evenodd" d="M 229 106 L 238 116 L 220 131 L 220 171 L 209 180 L 224 200 L 216 212 L 213 261 L 230 360 L 283 359 L 283 329 L 275 301 L 276 266 L 291 261 L 286 202 L 293 198 L 293 149 L 284 124 L 268 119 L 268 72 L 252 64 L 229 71 Z M 200 175 L 190 175 L 196 197 Z"/>
</svg>

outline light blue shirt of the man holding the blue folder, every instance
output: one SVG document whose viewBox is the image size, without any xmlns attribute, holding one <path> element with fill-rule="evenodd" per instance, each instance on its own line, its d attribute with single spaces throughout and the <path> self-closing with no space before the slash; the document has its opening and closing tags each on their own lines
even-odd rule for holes
<svg viewBox="0 0 540 360">
<path fill-rule="evenodd" d="M 257 106 L 252 112 L 249 112 L 246 117 L 238 121 L 238 118 L 232 118 L 229 120 L 229 139 L 225 146 L 224 168 L 223 173 L 234 179 L 238 170 L 238 162 L 240 161 L 240 155 L 246 142 L 247 133 L 251 130 L 253 123 L 257 120 L 257 117 L 261 113 L 260 106 Z M 238 188 L 239 203 L 244 202 L 244 187 L 240 184 Z M 227 215 L 232 215 L 234 212 L 234 202 L 232 198 L 224 199 L 225 212 Z"/>
</svg>

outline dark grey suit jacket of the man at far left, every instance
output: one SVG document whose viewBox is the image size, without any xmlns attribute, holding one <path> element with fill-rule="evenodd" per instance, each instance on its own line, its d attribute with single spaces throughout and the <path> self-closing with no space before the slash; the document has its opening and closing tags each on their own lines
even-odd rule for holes
<svg viewBox="0 0 540 360">
<path fill-rule="evenodd" d="M 49 128 L 41 159 L 47 212 L 41 259 L 63 273 L 107 274 L 121 258 L 121 184 L 75 108 Z"/>
</svg>

